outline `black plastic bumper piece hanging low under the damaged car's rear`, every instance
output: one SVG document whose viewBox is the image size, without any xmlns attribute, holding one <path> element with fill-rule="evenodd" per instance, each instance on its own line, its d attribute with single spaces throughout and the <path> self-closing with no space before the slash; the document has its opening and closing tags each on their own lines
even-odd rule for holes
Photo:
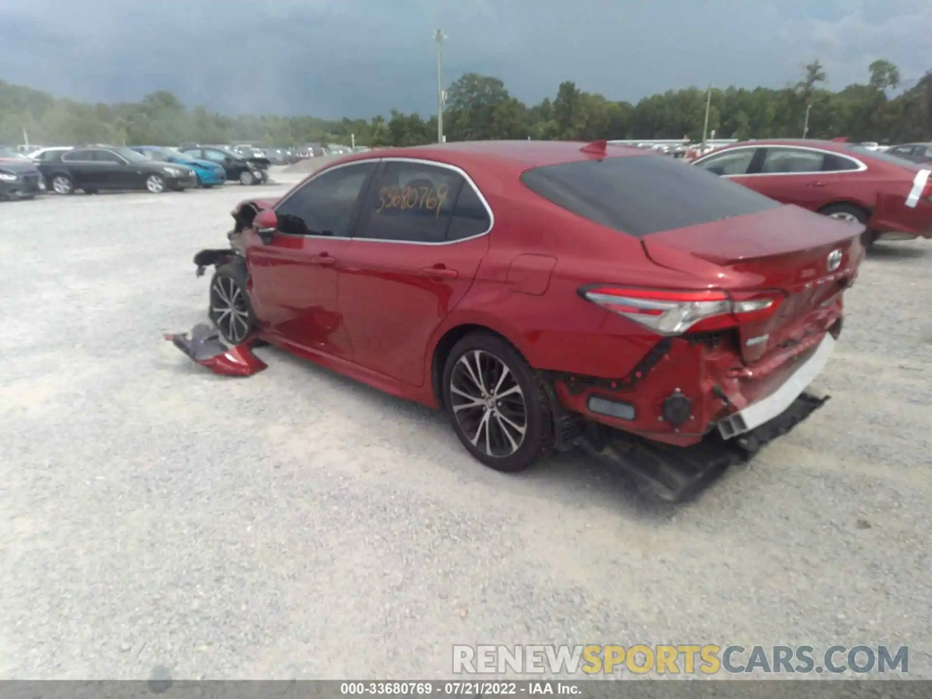
<svg viewBox="0 0 932 699">
<path fill-rule="evenodd" d="M 829 396 L 816 398 L 803 392 L 776 418 L 728 440 L 713 431 L 697 445 L 673 446 L 589 423 L 580 442 L 589 454 L 621 468 L 644 490 L 667 502 L 682 502 L 696 496 L 729 466 L 753 459 L 828 400 Z"/>
</svg>

